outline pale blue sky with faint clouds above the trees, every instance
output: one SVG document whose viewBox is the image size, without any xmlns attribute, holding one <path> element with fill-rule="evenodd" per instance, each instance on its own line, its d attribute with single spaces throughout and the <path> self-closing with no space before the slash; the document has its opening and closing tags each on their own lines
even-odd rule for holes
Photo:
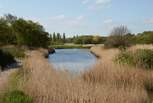
<svg viewBox="0 0 153 103">
<path fill-rule="evenodd" d="M 0 0 L 11 13 L 42 24 L 48 32 L 109 35 L 126 25 L 132 33 L 153 31 L 153 0 Z"/>
</svg>

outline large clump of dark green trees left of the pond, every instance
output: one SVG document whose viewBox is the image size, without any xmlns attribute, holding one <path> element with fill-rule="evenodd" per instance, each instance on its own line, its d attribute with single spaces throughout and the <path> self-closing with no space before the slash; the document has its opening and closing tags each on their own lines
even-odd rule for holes
<svg viewBox="0 0 153 103">
<path fill-rule="evenodd" d="M 47 47 L 49 33 L 37 22 L 11 14 L 0 17 L 0 45 Z"/>
</svg>

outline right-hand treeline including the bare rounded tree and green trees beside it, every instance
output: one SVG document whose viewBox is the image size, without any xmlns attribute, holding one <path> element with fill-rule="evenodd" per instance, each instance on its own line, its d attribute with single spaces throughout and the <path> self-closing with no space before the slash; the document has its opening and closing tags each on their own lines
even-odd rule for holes
<svg viewBox="0 0 153 103">
<path fill-rule="evenodd" d="M 153 44 L 153 31 L 132 34 L 126 26 L 115 27 L 105 41 L 105 47 L 128 47 L 135 44 Z"/>
</svg>

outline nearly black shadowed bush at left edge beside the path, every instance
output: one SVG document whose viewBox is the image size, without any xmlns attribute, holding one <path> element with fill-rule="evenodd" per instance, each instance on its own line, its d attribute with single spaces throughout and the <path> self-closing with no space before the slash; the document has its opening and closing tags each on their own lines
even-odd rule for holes
<svg viewBox="0 0 153 103">
<path fill-rule="evenodd" d="M 4 70 L 4 67 L 8 64 L 15 62 L 14 57 L 9 52 L 4 52 L 0 49 L 0 66 L 2 67 L 2 70 Z"/>
</svg>

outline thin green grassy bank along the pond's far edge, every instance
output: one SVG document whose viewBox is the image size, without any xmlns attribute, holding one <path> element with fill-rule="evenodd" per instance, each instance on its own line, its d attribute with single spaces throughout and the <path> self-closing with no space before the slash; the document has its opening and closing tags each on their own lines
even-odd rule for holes
<svg viewBox="0 0 153 103">
<path fill-rule="evenodd" d="M 88 45 L 52 45 L 51 48 L 55 49 L 90 49 Z"/>
</svg>

